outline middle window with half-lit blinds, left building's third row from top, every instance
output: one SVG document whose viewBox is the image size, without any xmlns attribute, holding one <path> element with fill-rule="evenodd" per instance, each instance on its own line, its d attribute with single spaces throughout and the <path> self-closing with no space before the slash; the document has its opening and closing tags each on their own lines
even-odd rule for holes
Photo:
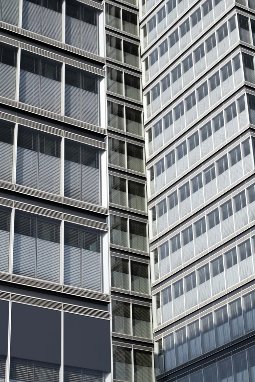
<svg viewBox="0 0 255 382">
<path fill-rule="evenodd" d="M 60 194 L 61 138 L 18 128 L 16 183 Z"/>
</svg>

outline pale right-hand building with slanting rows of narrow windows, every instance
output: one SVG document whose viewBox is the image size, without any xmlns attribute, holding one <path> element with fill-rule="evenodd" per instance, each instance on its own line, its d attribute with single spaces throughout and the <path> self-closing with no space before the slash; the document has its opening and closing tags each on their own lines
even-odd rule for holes
<svg viewBox="0 0 255 382">
<path fill-rule="evenodd" d="M 156 380 L 255 381 L 255 4 L 140 19 Z"/>
</svg>

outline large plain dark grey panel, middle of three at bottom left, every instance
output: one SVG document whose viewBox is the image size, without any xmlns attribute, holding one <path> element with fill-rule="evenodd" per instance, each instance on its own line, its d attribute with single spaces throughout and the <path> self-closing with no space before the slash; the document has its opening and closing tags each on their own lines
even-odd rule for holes
<svg viewBox="0 0 255 382">
<path fill-rule="evenodd" d="M 61 363 L 61 312 L 12 303 L 11 357 Z"/>
</svg>

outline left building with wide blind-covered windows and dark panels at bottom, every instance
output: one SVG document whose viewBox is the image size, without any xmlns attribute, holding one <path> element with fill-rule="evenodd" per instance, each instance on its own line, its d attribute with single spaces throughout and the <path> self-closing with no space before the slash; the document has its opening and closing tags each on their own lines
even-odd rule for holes
<svg viewBox="0 0 255 382">
<path fill-rule="evenodd" d="M 104 4 L 0 4 L 0 380 L 111 381 Z"/>
</svg>

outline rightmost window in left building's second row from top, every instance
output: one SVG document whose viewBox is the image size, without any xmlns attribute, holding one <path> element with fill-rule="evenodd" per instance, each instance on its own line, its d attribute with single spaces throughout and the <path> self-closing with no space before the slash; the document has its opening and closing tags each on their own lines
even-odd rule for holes
<svg viewBox="0 0 255 382">
<path fill-rule="evenodd" d="M 65 65 L 64 115 L 99 124 L 98 77 Z"/>
</svg>

